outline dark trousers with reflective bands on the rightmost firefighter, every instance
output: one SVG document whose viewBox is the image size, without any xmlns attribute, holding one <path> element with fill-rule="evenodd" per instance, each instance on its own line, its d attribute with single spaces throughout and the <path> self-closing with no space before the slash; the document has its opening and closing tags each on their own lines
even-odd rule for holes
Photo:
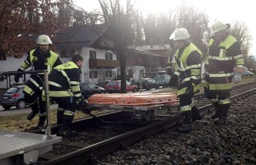
<svg viewBox="0 0 256 165">
<path fill-rule="evenodd" d="M 215 106 L 216 109 L 229 109 L 231 90 L 209 90 L 205 88 L 205 96 Z"/>
</svg>

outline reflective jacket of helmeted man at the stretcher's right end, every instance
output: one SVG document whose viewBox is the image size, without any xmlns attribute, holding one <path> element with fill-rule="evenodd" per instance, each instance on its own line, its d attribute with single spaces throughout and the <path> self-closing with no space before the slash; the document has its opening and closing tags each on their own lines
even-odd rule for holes
<svg viewBox="0 0 256 165">
<path fill-rule="evenodd" d="M 186 93 L 189 85 L 194 88 L 194 93 L 200 90 L 200 75 L 202 65 L 202 53 L 193 43 L 184 49 L 177 49 L 174 54 L 176 67 L 174 74 L 179 77 L 179 88 L 177 95 Z"/>
</svg>

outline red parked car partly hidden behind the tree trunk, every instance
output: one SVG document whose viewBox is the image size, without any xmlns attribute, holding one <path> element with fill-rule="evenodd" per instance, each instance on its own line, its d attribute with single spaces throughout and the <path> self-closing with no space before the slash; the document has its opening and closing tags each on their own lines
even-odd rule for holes
<svg viewBox="0 0 256 165">
<path fill-rule="evenodd" d="M 108 82 L 105 89 L 108 93 L 120 93 L 121 80 L 113 80 Z M 129 91 L 137 92 L 138 86 L 130 82 L 126 82 L 126 92 L 129 92 Z"/>
</svg>

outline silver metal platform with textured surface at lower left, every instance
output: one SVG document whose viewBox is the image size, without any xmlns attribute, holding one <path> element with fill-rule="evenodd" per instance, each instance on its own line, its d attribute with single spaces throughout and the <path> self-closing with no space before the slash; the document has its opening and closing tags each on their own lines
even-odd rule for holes
<svg viewBox="0 0 256 165">
<path fill-rule="evenodd" d="M 25 163 L 33 163 L 38 154 L 51 150 L 51 145 L 58 142 L 61 142 L 61 137 L 54 135 L 47 138 L 46 135 L 0 129 L 0 164 L 9 164 L 14 156 L 20 154 L 24 155 Z"/>
</svg>

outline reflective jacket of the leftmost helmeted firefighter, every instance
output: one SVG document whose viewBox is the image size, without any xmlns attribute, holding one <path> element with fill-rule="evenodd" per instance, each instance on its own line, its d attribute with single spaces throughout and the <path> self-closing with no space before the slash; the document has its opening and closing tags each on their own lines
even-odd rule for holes
<svg viewBox="0 0 256 165">
<path fill-rule="evenodd" d="M 37 48 L 30 51 L 30 54 L 27 56 L 27 59 L 23 61 L 19 69 L 26 70 L 28 69 L 28 67 L 32 67 L 33 70 L 47 69 L 49 74 L 53 67 L 59 66 L 60 64 L 62 64 L 62 62 L 59 59 L 58 54 L 49 50 L 45 55 L 43 55 L 39 52 L 39 48 Z M 43 73 L 40 74 L 43 75 Z"/>
</svg>

